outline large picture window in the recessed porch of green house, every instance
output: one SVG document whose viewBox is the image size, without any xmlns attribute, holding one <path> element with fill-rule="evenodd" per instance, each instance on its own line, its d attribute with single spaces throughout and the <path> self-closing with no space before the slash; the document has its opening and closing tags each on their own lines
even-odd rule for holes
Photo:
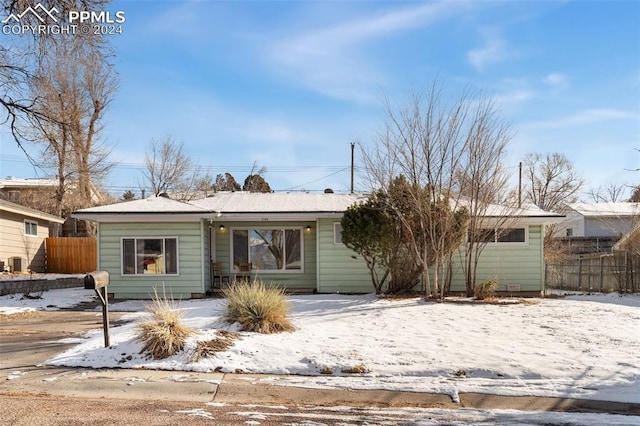
<svg viewBox="0 0 640 426">
<path fill-rule="evenodd" d="M 258 271 L 302 272 L 302 228 L 234 229 L 233 265 Z"/>
</svg>

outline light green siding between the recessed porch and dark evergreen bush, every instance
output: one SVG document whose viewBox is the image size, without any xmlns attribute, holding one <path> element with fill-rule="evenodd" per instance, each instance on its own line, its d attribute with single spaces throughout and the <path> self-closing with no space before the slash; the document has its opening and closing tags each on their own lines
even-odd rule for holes
<svg viewBox="0 0 640 426">
<path fill-rule="evenodd" d="M 337 222 L 340 220 L 318 220 L 318 291 L 372 293 L 371 275 L 362 258 L 344 244 L 334 244 L 333 224 Z"/>
</svg>

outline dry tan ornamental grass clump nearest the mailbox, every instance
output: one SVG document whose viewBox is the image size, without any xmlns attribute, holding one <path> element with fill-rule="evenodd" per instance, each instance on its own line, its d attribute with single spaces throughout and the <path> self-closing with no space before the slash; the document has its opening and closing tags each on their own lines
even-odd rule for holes
<svg viewBox="0 0 640 426">
<path fill-rule="evenodd" d="M 173 299 L 167 298 L 164 288 L 162 297 L 157 289 L 153 292 L 153 302 L 145 306 L 153 319 L 139 325 L 138 338 L 144 343 L 140 353 L 146 352 L 153 359 L 164 359 L 180 352 L 187 337 L 195 331 L 182 324 L 184 313 L 178 310 Z"/>
</svg>

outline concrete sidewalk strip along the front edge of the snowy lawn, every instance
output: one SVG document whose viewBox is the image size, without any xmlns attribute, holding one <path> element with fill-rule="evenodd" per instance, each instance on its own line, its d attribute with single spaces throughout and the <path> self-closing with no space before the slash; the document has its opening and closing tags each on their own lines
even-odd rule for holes
<svg viewBox="0 0 640 426">
<path fill-rule="evenodd" d="M 4 373 L 4 372 L 0 372 Z M 229 404 L 479 408 L 640 415 L 640 404 L 570 398 L 448 395 L 387 390 L 312 389 L 264 383 L 254 374 L 31 367 L 8 373 L 0 393 Z M 277 381 L 277 380 L 274 380 Z"/>
</svg>

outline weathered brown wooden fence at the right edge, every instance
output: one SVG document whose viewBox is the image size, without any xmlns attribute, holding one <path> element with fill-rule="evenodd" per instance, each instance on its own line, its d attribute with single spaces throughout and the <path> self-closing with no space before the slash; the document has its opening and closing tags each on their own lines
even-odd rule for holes
<svg viewBox="0 0 640 426">
<path fill-rule="evenodd" d="M 640 256 L 627 252 L 547 264 L 546 287 L 582 292 L 640 292 Z"/>
</svg>

